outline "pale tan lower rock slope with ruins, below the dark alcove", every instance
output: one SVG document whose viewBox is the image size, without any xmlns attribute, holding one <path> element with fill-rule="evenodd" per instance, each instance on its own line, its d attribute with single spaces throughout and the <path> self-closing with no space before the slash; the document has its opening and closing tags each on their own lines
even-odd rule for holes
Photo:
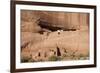
<svg viewBox="0 0 100 73">
<path fill-rule="evenodd" d="M 23 32 L 22 58 L 34 61 L 81 60 L 89 58 L 86 31 L 57 31 L 46 34 Z M 31 34 L 31 35 L 30 35 Z M 28 35 L 28 36 L 25 36 Z M 27 39 L 27 41 L 25 41 Z"/>
</svg>

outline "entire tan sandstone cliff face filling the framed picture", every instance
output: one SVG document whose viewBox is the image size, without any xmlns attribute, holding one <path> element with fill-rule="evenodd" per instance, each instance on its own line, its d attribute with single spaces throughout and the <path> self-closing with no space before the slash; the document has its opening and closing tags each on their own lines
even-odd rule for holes
<svg viewBox="0 0 100 73">
<path fill-rule="evenodd" d="M 89 57 L 88 20 L 86 13 L 22 10 L 21 58 L 28 62 L 86 59 Z"/>
</svg>

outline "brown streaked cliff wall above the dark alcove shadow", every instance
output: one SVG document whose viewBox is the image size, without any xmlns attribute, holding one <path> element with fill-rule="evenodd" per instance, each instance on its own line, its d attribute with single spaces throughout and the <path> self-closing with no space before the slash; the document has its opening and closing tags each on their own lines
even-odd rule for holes
<svg viewBox="0 0 100 73">
<path fill-rule="evenodd" d="M 81 26 L 89 24 L 88 13 L 66 13 L 47 11 L 21 11 L 22 21 L 32 22 L 33 25 L 41 24 L 49 27 L 59 27 L 61 29 L 80 29 Z M 44 23 L 44 24 L 43 24 Z M 32 28 L 32 27 L 31 27 Z M 82 29 L 82 28 L 81 28 Z"/>
</svg>

